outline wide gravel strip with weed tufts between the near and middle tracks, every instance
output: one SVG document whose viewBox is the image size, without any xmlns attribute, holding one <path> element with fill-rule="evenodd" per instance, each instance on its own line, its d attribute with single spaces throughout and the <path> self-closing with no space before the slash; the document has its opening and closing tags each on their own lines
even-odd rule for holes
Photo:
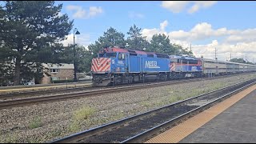
<svg viewBox="0 0 256 144">
<path fill-rule="evenodd" d="M 50 142 L 255 77 L 246 74 L 0 110 L 0 142 Z"/>
</svg>

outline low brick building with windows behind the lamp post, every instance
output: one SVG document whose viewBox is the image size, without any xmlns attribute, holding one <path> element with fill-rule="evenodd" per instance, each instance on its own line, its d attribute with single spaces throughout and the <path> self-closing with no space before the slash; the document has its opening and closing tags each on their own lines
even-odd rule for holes
<svg viewBox="0 0 256 144">
<path fill-rule="evenodd" d="M 49 84 L 52 80 L 74 79 L 74 64 L 61 63 L 51 64 L 42 63 L 43 78 L 41 84 Z"/>
</svg>

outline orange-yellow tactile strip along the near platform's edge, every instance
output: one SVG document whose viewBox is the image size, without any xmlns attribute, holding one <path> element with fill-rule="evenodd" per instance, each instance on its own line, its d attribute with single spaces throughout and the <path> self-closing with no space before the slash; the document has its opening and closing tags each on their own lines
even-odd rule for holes
<svg viewBox="0 0 256 144">
<path fill-rule="evenodd" d="M 194 130 L 197 130 L 199 127 L 206 124 L 206 122 L 209 122 L 212 118 L 216 117 L 218 114 L 221 114 L 224 110 L 234 105 L 234 103 L 238 102 L 240 99 L 246 97 L 246 95 L 250 94 L 250 92 L 253 90 L 256 90 L 256 85 L 250 86 L 246 90 L 243 90 L 242 92 L 227 98 L 223 102 L 220 102 L 217 105 L 204 110 L 202 113 L 189 118 L 185 122 L 182 122 L 178 126 L 174 126 L 170 130 L 166 130 L 162 134 L 151 138 L 145 143 L 177 143 L 183 138 L 186 138 L 186 136 L 189 134 L 193 133 Z"/>
</svg>

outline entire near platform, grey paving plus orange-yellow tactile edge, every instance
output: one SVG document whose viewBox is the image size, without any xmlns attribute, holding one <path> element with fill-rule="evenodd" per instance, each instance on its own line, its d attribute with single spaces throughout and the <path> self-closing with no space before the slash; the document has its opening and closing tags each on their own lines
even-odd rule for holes
<svg viewBox="0 0 256 144">
<path fill-rule="evenodd" d="M 189 118 L 146 143 L 256 142 L 256 85 Z"/>
</svg>

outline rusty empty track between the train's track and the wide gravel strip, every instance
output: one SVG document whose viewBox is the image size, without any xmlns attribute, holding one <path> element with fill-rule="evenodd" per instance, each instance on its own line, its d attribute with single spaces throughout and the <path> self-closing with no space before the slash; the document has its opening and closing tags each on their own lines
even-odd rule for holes
<svg viewBox="0 0 256 144">
<path fill-rule="evenodd" d="M 218 78 L 222 78 L 222 77 L 218 77 Z M 6 101 L 0 102 L 0 110 L 5 108 L 10 108 L 10 107 L 16 107 L 16 106 L 34 105 L 42 102 L 61 101 L 61 100 L 66 100 L 68 98 L 82 98 L 82 97 L 97 96 L 100 94 L 113 94 L 120 91 L 144 89 L 144 88 L 150 88 L 155 86 L 166 86 L 170 84 L 179 84 L 184 82 L 198 82 L 198 81 L 204 81 L 209 79 L 213 79 L 213 78 L 189 78 L 189 79 L 183 79 L 178 81 L 154 82 L 154 83 L 147 83 L 147 84 L 140 84 L 140 85 L 133 85 L 133 86 L 121 86 L 121 87 L 114 87 L 114 88 L 112 87 L 112 88 L 106 88 L 102 90 L 88 90 L 88 91 L 81 91 L 81 92 L 75 92 L 75 93 L 56 94 L 56 95 L 42 96 L 42 97 L 35 97 L 35 98 L 6 100 Z"/>
</svg>

